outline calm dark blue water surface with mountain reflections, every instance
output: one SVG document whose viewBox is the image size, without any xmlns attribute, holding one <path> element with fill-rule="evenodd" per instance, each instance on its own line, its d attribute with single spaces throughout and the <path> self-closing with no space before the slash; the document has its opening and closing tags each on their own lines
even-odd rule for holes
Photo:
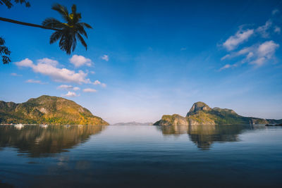
<svg viewBox="0 0 282 188">
<path fill-rule="evenodd" d="M 0 126 L 0 187 L 281 187 L 282 127 Z"/>
</svg>

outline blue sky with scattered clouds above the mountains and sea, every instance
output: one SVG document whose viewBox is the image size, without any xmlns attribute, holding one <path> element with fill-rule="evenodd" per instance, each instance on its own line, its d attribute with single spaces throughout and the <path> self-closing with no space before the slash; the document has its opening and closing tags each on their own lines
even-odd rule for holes
<svg viewBox="0 0 282 188">
<path fill-rule="evenodd" d="M 62 96 L 109 123 L 155 122 L 192 104 L 282 118 L 282 1 L 34 1 L 0 17 L 62 20 L 77 5 L 88 48 L 49 44 L 52 30 L 0 21 L 12 62 L 0 64 L 0 100 Z"/>
</svg>

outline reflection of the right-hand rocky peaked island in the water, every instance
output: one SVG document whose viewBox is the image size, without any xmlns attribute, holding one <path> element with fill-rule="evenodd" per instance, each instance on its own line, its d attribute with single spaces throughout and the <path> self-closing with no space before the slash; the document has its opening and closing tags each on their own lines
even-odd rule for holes
<svg viewBox="0 0 282 188">
<path fill-rule="evenodd" d="M 162 133 L 188 134 L 200 149 L 209 149 L 214 142 L 237 142 L 246 125 L 171 125 L 161 126 Z"/>
</svg>

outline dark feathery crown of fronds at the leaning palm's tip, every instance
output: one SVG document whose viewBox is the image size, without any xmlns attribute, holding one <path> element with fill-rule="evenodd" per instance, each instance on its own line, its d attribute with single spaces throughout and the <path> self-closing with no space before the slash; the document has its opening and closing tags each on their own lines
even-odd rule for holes
<svg viewBox="0 0 282 188">
<path fill-rule="evenodd" d="M 71 54 L 75 50 L 78 39 L 87 50 L 87 44 L 82 35 L 87 38 L 85 27 L 89 29 L 92 29 L 92 27 L 87 23 L 80 23 L 81 13 L 76 12 L 75 4 L 71 7 L 71 13 L 68 13 L 66 6 L 60 4 L 54 4 L 52 9 L 60 13 L 66 23 L 61 23 L 55 18 L 47 18 L 42 22 L 43 27 L 56 30 L 50 37 L 50 44 L 60 39 L 59 46 L 61 50 L 66 51 L 66 54 Z"/>
</svg>

